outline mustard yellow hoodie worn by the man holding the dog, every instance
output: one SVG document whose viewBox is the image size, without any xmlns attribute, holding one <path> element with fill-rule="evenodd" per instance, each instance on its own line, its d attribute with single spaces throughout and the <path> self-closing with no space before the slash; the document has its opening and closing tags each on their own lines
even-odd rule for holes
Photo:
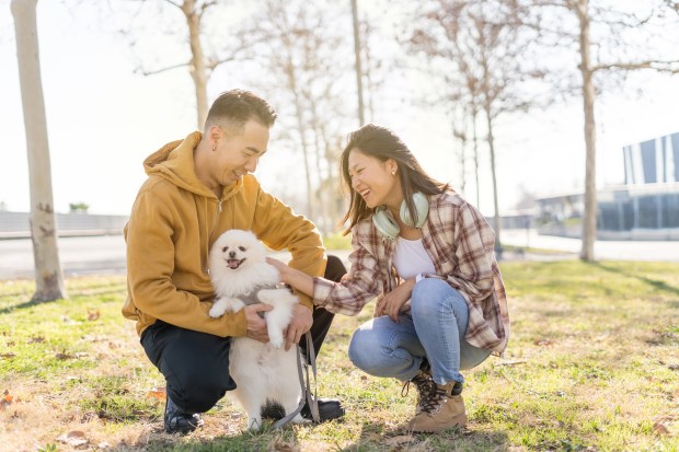
<svg viewBox="0 0 679 452">
<path fill-rule="evenodd" d="M 253 231 L 272 250 L 287 248 L 290 266 L 322 276 L 326 257 L 314 224 L 274 196 L 252 175 L 225 188 L 221 199 L 194 171 L 194 148 L 202 134 L 165 144 L 149 155 L 143 183 L 129 221 L 128 297 L 123 315 L 137 322 L 137 333 L 160 318 L 172 325 L 217 336 L 244 336 L 243 310 L 212 318 L 215 299 L 208 275 L 208 252 L 229 229 Z M 308 297 L 301 303 L 311 306 Z"/>
</svg>

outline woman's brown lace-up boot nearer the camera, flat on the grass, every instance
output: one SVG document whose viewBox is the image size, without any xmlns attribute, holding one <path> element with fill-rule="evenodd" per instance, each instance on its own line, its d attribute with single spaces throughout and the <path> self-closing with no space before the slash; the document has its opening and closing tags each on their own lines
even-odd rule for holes
<svg viewBox="0 0 679 452">
<path fill-rule="evenodd" d="M 436 389 L 423 397 L 422 409 L 407 425 L 413 432 L 437 432 L 467 425 L 467 413 L 462 395 L 452 395 L 454 382 L 436 384 Z M 457 393 L 458 391 L 456 391 Z"/>
</svg>

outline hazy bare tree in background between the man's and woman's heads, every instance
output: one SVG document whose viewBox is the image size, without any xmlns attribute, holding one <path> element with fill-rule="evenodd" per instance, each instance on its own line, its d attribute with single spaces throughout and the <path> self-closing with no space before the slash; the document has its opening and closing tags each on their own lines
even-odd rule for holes
<svg viewBox="0 0 679 452">
<path fill-rule="evenodd" d="M 327 210 L 335 202 L 335 190 L 325 183 L 336 177 L 329 160 L 329 148 L 354 126 L 355 117 L 346 109 L 355 103 L 346 102 L 347 86 L 352 86 L 352 47 L 347 36 L 337 26 L 338 20 L 350 25 L 348 8 L 340 9 L 331 2 L 264 0 L 252 19 L 250 30 L 240 33 L 257 43 L 250 49 L 251 67 L 266 74 L 262 84 L 268 97 L 283 105 L 281 127 L 288 131 L 294 147 L 302 154 L 307 193 L 307 215 L 319 224 L 334 224 Z M 348 4 L 346 4 L 348 7 Z M 355 78 L 354 78 L 355 79 Z M 330 227 L 323 227 L 329 232 Z"/>
</svg>

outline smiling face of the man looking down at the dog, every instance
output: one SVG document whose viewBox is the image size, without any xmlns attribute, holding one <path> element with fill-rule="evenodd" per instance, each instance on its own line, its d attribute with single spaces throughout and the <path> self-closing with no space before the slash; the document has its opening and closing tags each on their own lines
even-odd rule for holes
<svg viewBox="0 0 679 452">
<path fill-rule="evenodd" d="M 250 119 L 241 132 L 221 131 L 215 147 L 212 175 L 215 182 L 227 186 L 255 171 L 268 146 L 268 128 Z"/>
</svg>

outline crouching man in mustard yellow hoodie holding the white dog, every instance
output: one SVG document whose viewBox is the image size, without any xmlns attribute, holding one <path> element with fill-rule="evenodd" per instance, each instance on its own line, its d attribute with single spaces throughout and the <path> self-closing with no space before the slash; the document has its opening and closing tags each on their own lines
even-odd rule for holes
<svg viewBox="0 0 679 452">
<path fill-rule="evenodd" d="M 338 280 L 346 273 L 338 259 L 326 259 L 313 223 L 262 190 L 250 174 L 266 152 L 276 116 L 251 92 L 222 93 L 203 134 L 165 144 L 143 162 L 149 177 L 125 228 L 128 298 L 123 315 L 137 322 L 147 356 L 166 380 L 164 426 L 170 433 L 203 425 L 199 414 L 235 387 L 229 376 L 230 337 L 268 341 L 258 314 L 271 306 L 208 315 L 215 298 L 208 252 L 222 232 L 253 231 L 271 248 L 287 248 L 290 265 L 311 276 Z M 332 320 L 333 314 L 300 295 L 286 349 L 311 328 L 318 354 Z M 319 410 L 321 420 L 344 415 L 337 401 L 319 401 Z M 280 416 L 272 407 L 264 415 L 272 413 Z M 304 415 L 310 416 L 307 406 Z"/>
</svg>

